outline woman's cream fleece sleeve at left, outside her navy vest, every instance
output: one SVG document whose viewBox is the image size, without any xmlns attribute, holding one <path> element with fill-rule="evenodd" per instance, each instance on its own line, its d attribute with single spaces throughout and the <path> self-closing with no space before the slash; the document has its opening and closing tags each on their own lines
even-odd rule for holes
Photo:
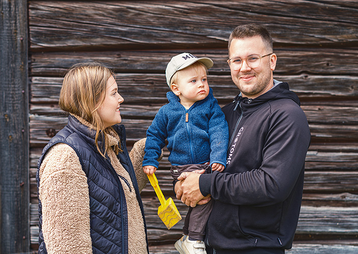
<svg viewBox="0 0 358 254">
<path fill-rule="evenodd" d="M 48 253 L 92 254 L 87 177 L 70 146 L 56 144 L 46 154 L 39 198 Z"/>
</svg>

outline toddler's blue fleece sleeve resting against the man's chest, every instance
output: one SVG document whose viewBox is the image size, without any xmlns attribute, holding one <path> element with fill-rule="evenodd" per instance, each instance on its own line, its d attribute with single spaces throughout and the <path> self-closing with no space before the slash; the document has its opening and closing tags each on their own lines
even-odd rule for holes
<svg viewBox="0 0 358 254">
<path fill-rule="evenodd" d="M 213 98 L 211 106 L 211 117 L 209 119 L 210 137 L 210 166 L 213 163 L 220 163 L 226 166 L 226 154 L 229 143 L 229 127 L 225 115 Z"/>
</svg>

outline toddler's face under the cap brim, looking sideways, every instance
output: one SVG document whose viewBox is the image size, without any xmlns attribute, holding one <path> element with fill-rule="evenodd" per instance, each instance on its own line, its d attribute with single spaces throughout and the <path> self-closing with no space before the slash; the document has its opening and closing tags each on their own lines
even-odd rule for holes
<svg viewBox="0 0 358 254">
<path fill-rule="evenodd" d="M 192 105 L 197 101 L 204 100 L 209 94 L 209 84 L 204 67 L 187 67 L 180 71 L 177 82 L 180 103 Z"/>
</svg>

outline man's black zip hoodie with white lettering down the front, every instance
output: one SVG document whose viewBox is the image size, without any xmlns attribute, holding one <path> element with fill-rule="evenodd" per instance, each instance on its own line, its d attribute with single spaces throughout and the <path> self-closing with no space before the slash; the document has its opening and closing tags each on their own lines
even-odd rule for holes
<svg viewBox="0 0 358 254">
<path fill-rule="evenodd" d="M 277 82 L 277 81 L 276 81 Z M 230 142 L 224 172 L 200 176 L 214 206 L 206 243 L 214 249 L 292 247 L 310 130 L 296 94 L 280 83 L 223 111 Z"/>
</svg>

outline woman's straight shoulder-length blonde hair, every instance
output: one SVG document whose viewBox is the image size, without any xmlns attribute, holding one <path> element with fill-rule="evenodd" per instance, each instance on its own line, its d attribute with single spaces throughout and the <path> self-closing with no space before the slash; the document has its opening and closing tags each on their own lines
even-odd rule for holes
<svg viewBox="0 0 358 254">
<path fill-rule="evenodd" d="M 107 134 L 114 130 L 112 126 L 104 128 L 103 120 L 97 109 L 104 101 L 107 80 L 111 76 L 115 77 L 114 71 L 102 63 L 77 63 L 65 75 L 59 101 L 62 110 L 79 116 L 94 126 L 96 147 L 103 157 L 109 149 Z M 105 142 L 104 151 L 98 145 L 99 138 Z M 119 148 L 116 147 L 115 151 L 118 153 Z"/>
</svg>

